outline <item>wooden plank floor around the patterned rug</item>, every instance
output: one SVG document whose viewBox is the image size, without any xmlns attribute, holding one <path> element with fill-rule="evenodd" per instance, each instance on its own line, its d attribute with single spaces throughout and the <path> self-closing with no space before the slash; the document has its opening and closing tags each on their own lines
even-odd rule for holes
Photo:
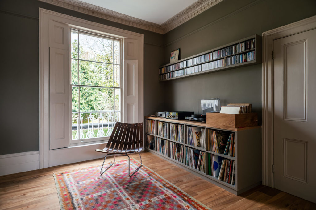
<svg viewBox="0 0 316 210">
<path fill-rule="evenodd" d="M 138 154 L 131 155 L 139 160 Z M 117 157 L 125 159 L 126 157 Z M 113 157 L 106 159 L 113 160 Z M 316 204 L 266 186 L 234 195 L 149 152 L 143 164 L 211 209 L 316 209 Z M 0 177 L 0 209 L 60 209 L 54 172 L 100 165 L 101 159 Z"/>
</svg>

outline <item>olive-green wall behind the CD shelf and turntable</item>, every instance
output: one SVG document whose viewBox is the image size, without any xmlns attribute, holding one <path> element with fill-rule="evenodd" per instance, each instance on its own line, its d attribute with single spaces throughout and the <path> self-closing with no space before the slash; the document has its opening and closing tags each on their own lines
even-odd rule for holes
<svg viewBox="0 0 316 210">
<path fill-rule="evenodd" d="M 164 63 L 180 48 L 181 59 L 316 15 L 315 0 L 224 0 L 164 35 Z M 209 73 L 164 84 L 165 109 L 194 111 L 198 98 L 221 105 L 251 103 L 261 123 L 261 65 Z"/>
</svg>

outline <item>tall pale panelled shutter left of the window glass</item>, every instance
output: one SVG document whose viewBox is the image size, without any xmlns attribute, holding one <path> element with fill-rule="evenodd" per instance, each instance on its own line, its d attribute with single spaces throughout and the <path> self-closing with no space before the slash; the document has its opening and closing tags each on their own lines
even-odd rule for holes
<svg viewBox="0 0 316 210">
<path fill-rule="evenodd" d="M 50 149 L 70 144 L 69 66 L 69 26 L 50 20 Z"/>
</svg>

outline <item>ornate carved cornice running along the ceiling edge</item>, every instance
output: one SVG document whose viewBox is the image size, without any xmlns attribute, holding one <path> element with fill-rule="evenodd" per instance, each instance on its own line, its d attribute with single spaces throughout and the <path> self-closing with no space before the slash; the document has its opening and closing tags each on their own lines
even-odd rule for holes
<svg viewBox="0 0 316 210">
<path fill-rule="evenodd" d="M 75 10 L 77 12 L 82 12 L 88 15 L 93 15 L 106 20 L 111 20 L 114 22 L 122 23 L 125 25 L 142 28 L 148 31 L 165 34 L 168 31 L 178 27 L 182 23 L 190 20 L 196 15 L 204 12 L 206 9 L 214 6 L 215 4 L 223 0 L 199 0 L 186 9 L 179 12 L 177 15 L 173 16 L 163 24 L 159 25 L 146 20 L 141 20 L 128 15 L 124 15 L 119 12 L 115 12 L 109 9 L 98 7 L 92 4 L 88 4 L 78 0 L 39 0 L 42 2 L 54 4 L 66 9 Z"/>
</svg>

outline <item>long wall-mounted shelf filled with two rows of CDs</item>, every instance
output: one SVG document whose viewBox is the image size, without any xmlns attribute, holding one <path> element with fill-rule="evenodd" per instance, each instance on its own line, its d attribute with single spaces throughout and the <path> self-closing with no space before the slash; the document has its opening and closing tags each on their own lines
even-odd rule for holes
<svg viewBox="0 0 316 210">
<path fill-rule="evenodd" d="M 261 63 L 261 36 L 253 35 L 159 67 L 168 81 Z"/>
</svg>

